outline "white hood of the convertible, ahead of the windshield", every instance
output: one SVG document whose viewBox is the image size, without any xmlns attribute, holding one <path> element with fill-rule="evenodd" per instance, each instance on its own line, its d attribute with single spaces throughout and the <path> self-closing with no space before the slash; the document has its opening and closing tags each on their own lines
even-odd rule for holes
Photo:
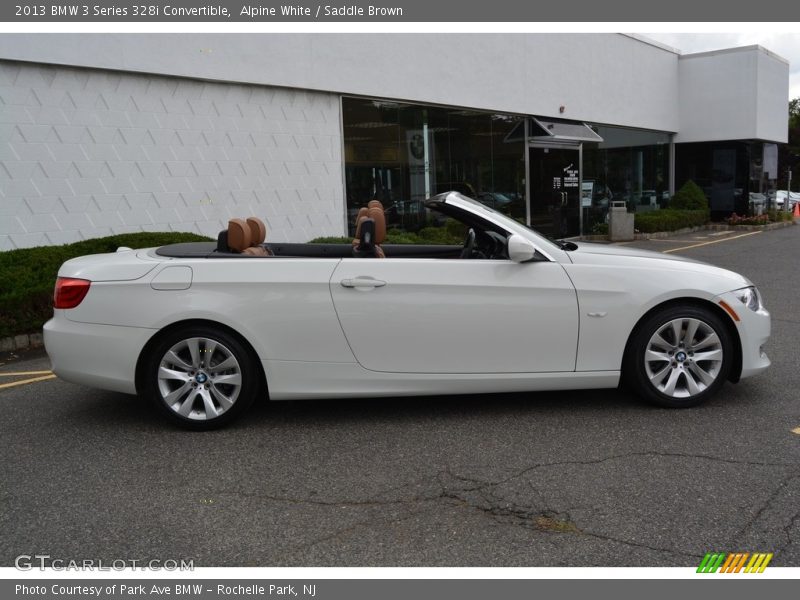
<svg viewBox="0 0 800 600">
<path fill-rule="evenodd" d="M 640 248 L 630 248 L 614 244 L 597 244 L 591 242 L 579 242 L 575 244 L 577 248 L 566 254 L 573 264 L 576 265 L 602 265 L 622 267 L 651 267 L 655 270 L 669 269 L 672 271 L 690 271 L 701 273 L 717 280 L 727 280 L 729 289 L 752 285 L 749 279 L 708 263 L 677 256 L 674 254 L 663 254 L 652 250 L 642 250 Z"/>
</svg>

